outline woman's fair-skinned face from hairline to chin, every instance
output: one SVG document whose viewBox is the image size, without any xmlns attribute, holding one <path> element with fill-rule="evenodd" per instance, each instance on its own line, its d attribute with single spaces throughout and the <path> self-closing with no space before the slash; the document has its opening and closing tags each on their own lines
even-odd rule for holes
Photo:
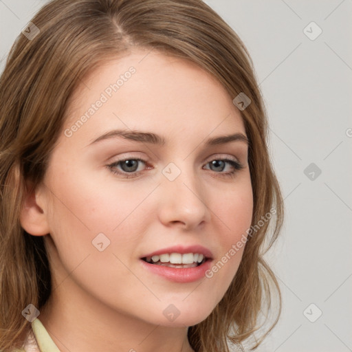
<svg viewBox="0 0 352 352">
<path fill-rule="evenodd" d="M 54 293 L 69 295 L 72 309 L 89 299 L 91 311 L 103 304 L 182 327 L 219 303 L 253 208 L 248 144 L 217 140 L 245 136 L 233 98 L 196 65 L 142 50 L 97 67 L 78 87 L 36 193 Z"/>
</svg>

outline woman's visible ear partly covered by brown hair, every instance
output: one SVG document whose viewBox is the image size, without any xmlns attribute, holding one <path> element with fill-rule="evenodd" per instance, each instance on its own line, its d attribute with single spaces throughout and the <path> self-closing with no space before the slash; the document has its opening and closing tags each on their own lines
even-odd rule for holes
<svg viewBox="0 0 352 352">
<path fill-rule="evenodd" d="M 39 206 L 42 203 L 45 204 L 39 188 L 34 188 L 32 182 L 27 181 L 20 221 L 22 228 L 34 236 L 43 236 L 50 232 L 47 212 Z"/>
</svg>

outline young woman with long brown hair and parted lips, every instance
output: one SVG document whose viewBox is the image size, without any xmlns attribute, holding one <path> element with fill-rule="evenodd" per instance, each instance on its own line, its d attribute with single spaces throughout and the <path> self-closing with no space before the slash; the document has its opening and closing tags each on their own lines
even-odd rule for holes
<svg viewBox="0 0 352 352">
<path fill-rule="evenodd" d="M 0 105 L 1 351 L 254 336 L 280 297 L 263 242 L 283 200 L 250 56 L 208 5 L 51 1 Z"/>
</svg>

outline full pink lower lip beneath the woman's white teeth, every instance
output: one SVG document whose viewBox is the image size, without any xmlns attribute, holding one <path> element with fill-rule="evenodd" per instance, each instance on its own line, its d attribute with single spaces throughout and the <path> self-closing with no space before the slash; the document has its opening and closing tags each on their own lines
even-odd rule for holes
<svg viewBox="0 0 352 352">
<path fill-rule="evenodd" d="M 212 262 L 208 259 L 197 267 L 166 267 L 164 265 L 150 264 L 142 259 L 140 259 L 140 261 L 146 270 L 159 276 L 163 276 L 167 280 L 174 281 L 175 283 L 192 283 L 193 281 L 198 281 L 201 278 L 204 278 L 206 271 L 210 269 Z"/>
</svg>

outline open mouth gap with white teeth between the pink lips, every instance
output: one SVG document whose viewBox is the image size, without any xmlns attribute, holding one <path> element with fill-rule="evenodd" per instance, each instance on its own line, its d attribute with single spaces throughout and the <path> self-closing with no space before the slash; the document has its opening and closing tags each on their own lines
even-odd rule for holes
<svg viewBox="0 0 352 352">
<path fill-rule="evenodd" d="M 199 267 L 210 258 L 202 253 L 164 253 L 153 256 L 145 256 L 142 261 L 153 265 L 161 265 L 165 267 L 187 268 Z"/>
</svg>

